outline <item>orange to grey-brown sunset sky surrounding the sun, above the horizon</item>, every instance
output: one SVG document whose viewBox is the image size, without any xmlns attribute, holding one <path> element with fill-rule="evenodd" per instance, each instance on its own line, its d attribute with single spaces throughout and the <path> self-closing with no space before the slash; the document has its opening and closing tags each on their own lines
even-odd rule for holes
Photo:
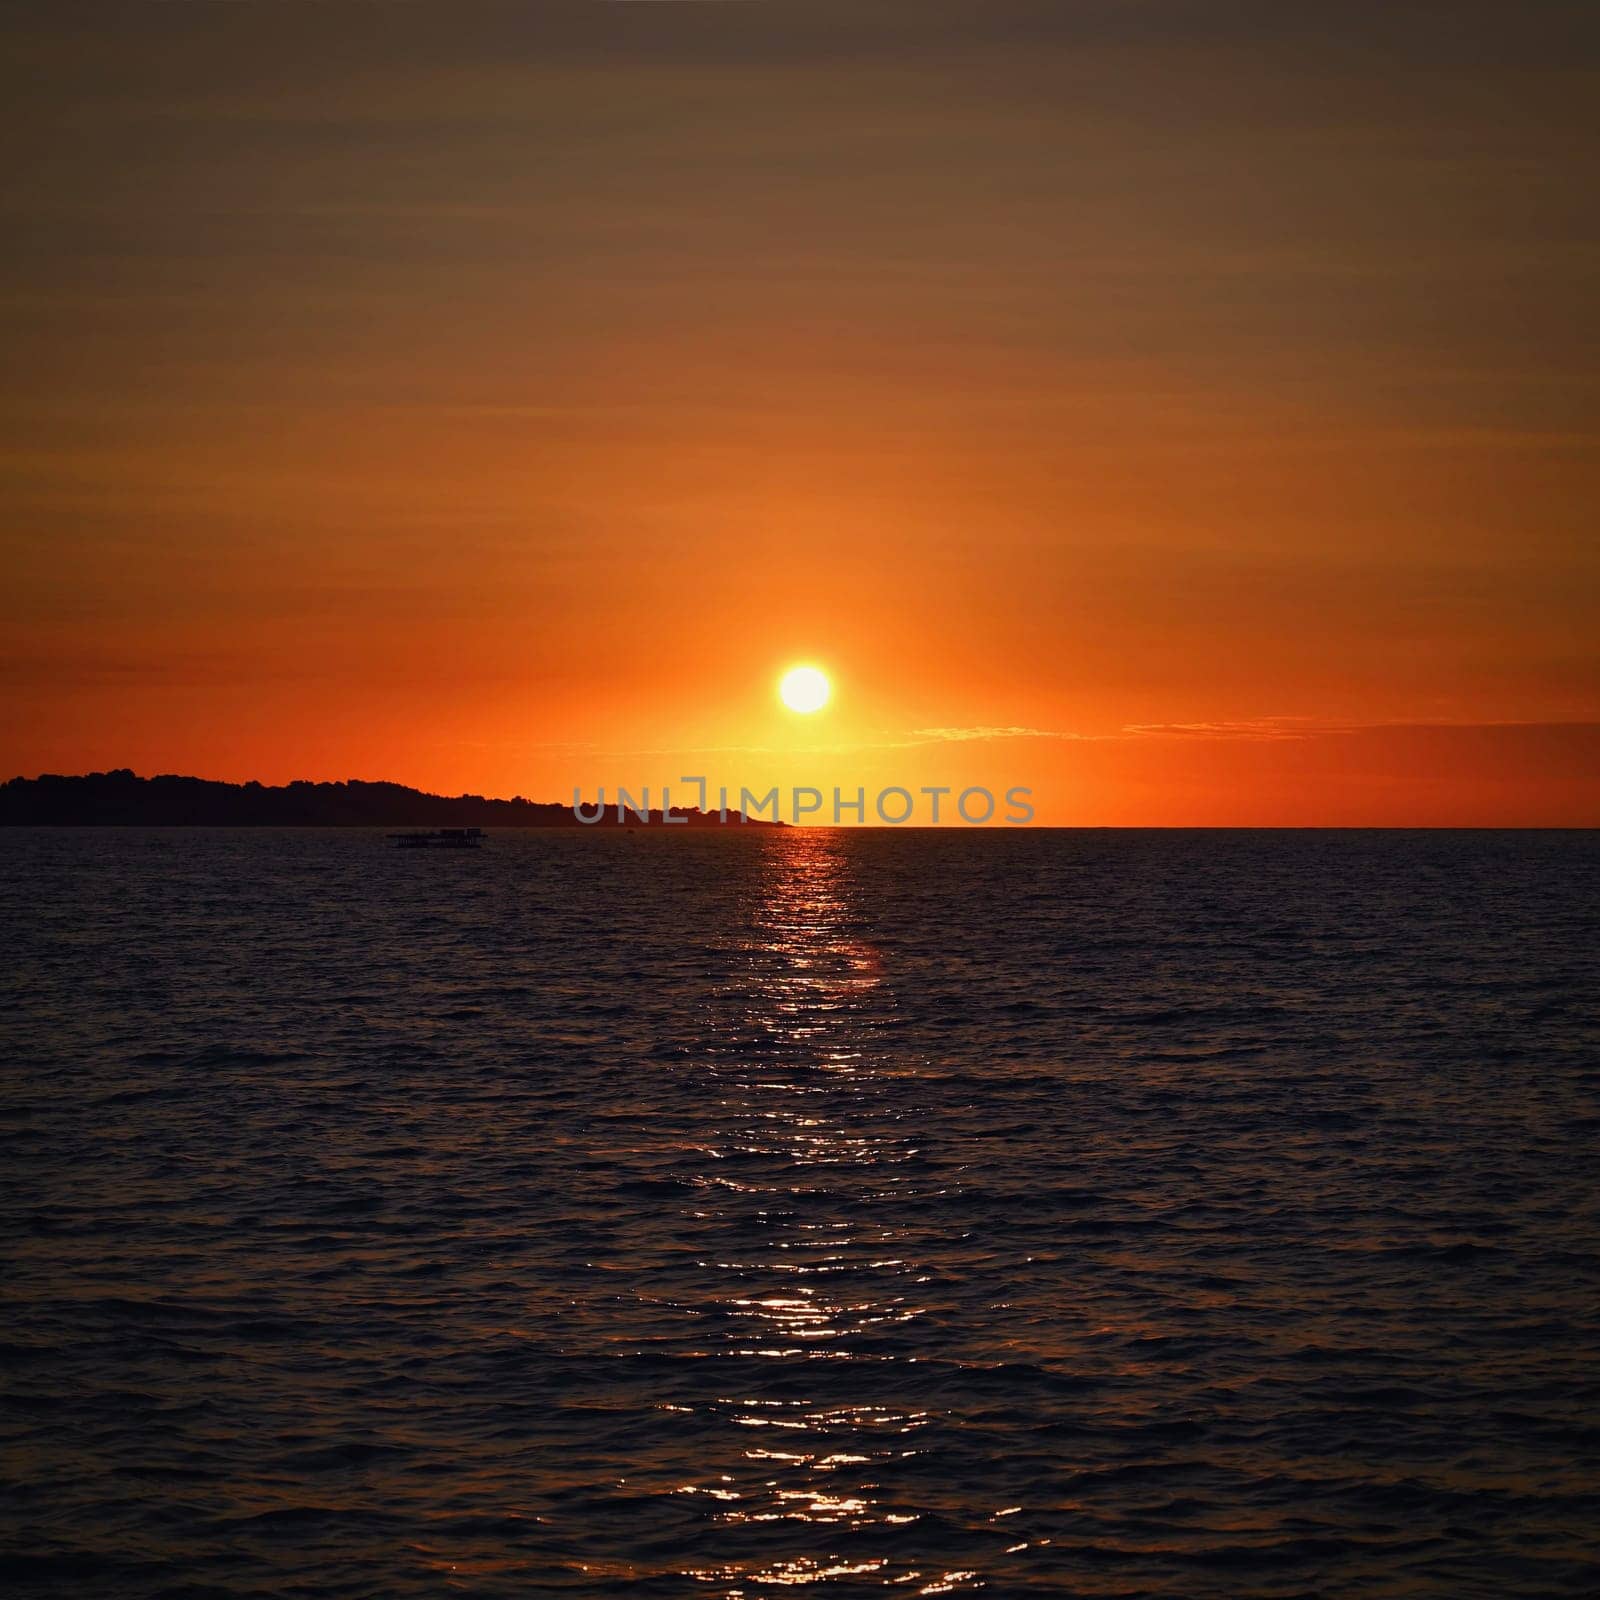
<svg viewBox="0 0 1600 1600">
<path fill-rule="evenodd" d="M 1600 6 L 5 32 L 0 776 L 1600 822 Z"/>
</svg>

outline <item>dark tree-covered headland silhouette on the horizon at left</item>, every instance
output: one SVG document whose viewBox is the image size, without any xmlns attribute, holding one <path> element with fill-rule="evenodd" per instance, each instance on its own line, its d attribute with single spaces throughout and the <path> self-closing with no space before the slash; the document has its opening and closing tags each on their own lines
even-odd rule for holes
<svg viewBox="0 0 1600 1600">
<path fill-rule="evenodd" d="M 586 808 L 592 803 L 586 802 Z M 690 827 L 781 827 L 728 811 L 672 808 Z M 662 821 L 659 808 L 650 821 Z M 570 805 L 486 800 L 483 795 L 430 795 L 405 784 L 298 781 L 222 784 L 208 778 L 139 778 L 128 768 L 83 778 L 13 778 L 0 784 L 0 827 L 582 827 Z M 611 797 L 594 827 L 640 827 L 629 814 L 618 824 Z"/>
</svg>

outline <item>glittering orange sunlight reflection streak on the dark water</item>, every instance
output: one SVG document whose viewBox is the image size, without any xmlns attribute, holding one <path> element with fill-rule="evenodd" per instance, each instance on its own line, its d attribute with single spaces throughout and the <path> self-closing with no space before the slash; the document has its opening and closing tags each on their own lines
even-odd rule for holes
<svg viewBox="0 0 1600 1600">
<path fill-rule="evenodd" d="M 907 1072 L 888 1048 L 893 1000 L 856 920 L 837 837 L 770 838 L 749 978 L 718 1016 L 726 1054 L 712 1069 L 717 1126 L 704 1152 L 704 1219 L 734 1224 L 754 1248 L 702 1266 L 723 1314 L 720 1350 L 709 1354 L 741 1370 L 765 1363 L 771 1376 L 718 1397 L 730 1450 L 678 1490 L 714 1506 L 725 1536 L 778 1536 L 782 1549 L 766 1558 L 685 1570 L 730 1600 L 773 1587 L 981 1586 L 973 1568 L 914 1554 L 922 1512 L 890 1483 L 926 1470 L 938 1422 L 907 1398 L 930 1274 L 915 1227 L 898 1219 L 933 1195 L 907 1085 L 893 1082 Z M 864 1379 L 874 1371 L 882 1386 Z"/>
</svg>

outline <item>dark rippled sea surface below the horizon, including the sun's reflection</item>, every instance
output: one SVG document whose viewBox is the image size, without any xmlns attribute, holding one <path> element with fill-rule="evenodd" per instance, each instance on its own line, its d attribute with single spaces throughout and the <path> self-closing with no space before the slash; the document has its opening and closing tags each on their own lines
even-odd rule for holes
<svg viewBox="0 0 1600 1600">
<path fill-rule="evenodd" d="M 0 830 L 13 1595 L 1600 1594 L 1600 837 Z"/>
</svg>

